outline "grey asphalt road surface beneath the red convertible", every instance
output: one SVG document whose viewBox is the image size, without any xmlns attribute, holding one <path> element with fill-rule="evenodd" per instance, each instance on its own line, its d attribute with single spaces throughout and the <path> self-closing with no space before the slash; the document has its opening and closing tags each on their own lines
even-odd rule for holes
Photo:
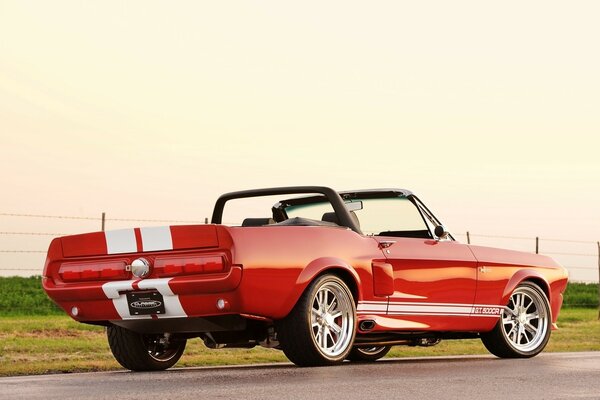
<svg viewBox="0 0 600 400">
<path fill-rule="evenodd" d="M 600 399 L 600 352 L 0 378 L 1 399 Z"/>
</svg>

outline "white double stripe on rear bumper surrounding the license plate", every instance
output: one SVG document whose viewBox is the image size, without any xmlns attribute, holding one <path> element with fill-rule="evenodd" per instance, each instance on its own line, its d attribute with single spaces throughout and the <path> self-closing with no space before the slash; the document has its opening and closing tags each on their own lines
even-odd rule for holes
<svg viewBox="0 0 600 400">
<path fill-rule="evenodd" d="M 141 290 L 156 289 L 163 296 L 165 302 L 165 314 L 157 315 L 159 319 L 162 318 L 182 318 L 187 317 L 179 296 L 174 294 L 169 287 L 169 281 L 172 278 L 162 279 L 145 279 L 142 281 L 118 281 L 108 282 L 102 285 L 102 290 L 106 297 L 112 300 L 115 309 L 119 313 L 119 316 L 124 319 L 151 319 L 150 315 L 131 315 L 129 313 L 129 305 L 127 304 L 127 296 L 119 292 L 133 291 L 133 283 L 138 282 L 137 286 Z"/>
</svg>

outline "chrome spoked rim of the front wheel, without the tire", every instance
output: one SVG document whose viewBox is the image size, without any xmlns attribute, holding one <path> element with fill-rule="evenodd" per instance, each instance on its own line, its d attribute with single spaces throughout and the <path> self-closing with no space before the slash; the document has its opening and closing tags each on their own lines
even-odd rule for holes
<svg viewBox="0 0 600 400">
<path fill-rule="evenodd" d="M 547 300 L 529 286 L 518 287 L 502 311 L 502 333 L 520 352 L 536 350 L 547 340 Z"/>
</svg>

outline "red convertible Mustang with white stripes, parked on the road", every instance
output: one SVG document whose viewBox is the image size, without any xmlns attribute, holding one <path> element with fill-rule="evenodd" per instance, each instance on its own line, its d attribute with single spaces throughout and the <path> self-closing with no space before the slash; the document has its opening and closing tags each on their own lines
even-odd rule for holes
<svg viewBox="0 0 600 400">
<path fill-rule="evenodd" d="M 260 214 L 222 223 L 240 199 L 264 196 Z M 54 239 L 43 279 L 72 318 L 106 326 L 136 371 L 171 367 L 196 337 L 281 349 L 299 366 L 462 338 L 532 357 L 566 285 L 551 258 L 457 242 L 407 190 L 317 186 L 225 194 L 211 224 Z"/>
</svg>

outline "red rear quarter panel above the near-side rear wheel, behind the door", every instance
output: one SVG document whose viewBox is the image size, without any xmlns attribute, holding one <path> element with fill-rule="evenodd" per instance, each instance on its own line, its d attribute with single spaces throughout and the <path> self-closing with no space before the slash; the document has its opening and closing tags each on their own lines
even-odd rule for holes
<svg viewBox="0 0 600 400">
<path fill-rule="evenodd" d="M 311 226 L 228 230 L 234 263 L 243 265 L 238 288 L 243 313 L 285 317 L 312 279 L 328 269 L 345 271 L 354 280 L 356 301 L 373 298 L 371 261 L 381 258 L 373 238 Z"/>
</svg>

